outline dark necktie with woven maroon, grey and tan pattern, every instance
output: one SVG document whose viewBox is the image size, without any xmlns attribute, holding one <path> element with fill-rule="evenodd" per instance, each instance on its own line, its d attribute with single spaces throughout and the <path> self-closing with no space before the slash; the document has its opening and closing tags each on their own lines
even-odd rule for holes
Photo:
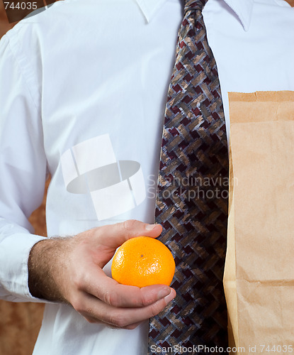
<svg viewBox="0 0 294 355">
<path fill-rule="evenodd" d="M 227 136 L 206 1 L 185 1 L 166 104 L 155 219 L 174 254 L 177 296 L 150 320 L 149 354 L 210 354 L 199 345 L 226 354 Z"/>
</svg>

